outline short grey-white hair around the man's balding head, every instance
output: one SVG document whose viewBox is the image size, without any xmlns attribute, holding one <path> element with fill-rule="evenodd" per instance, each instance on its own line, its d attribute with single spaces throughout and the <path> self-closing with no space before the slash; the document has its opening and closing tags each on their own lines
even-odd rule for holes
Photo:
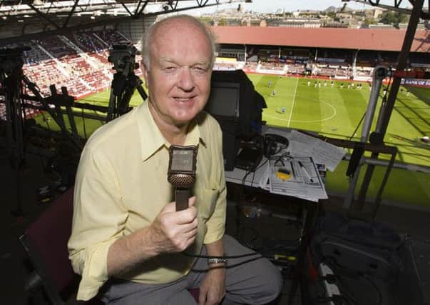
<svg viewBox="0 0 430 305">
<path fill-rule="evenodd" d="M 142 37 L 142 50 L 141 50 L 142 60 L 143 60 L 143 64 L 145 65 L 145 68 L 148 71 L 150 71 L 150 44 L 154 39 L 154 33 L 157 31 L 157 29 L 160 26 L 169 22 L 170 20 L 175 20 L 175 19 L 191 21 L 191 23 L 195 24 L 195 26 L 198 26 L 198 28 L 200 28 L 203 31 L 203 34 L 205 34 L 205 36 L 208 38 L 208 41 L 210 43 L 210 50 L 211 50 L 210 64 L 212 67 L 213 64 L 215 63 L 215 52 L 217 51 L 217 45 L 212 31 L 209 29 L 209 27 L 206 24 L 203 23 L 203 21 L 200 21 L 199 19 L 190 15 L 181 14 L 181 15 L 169 16 L 165 19 L 161 19 L 160 21 L 152 24 L 148 28 L 148 30 L 145 31 L 145 34 L 143 34 L 143 37 Z"/>
</svg>

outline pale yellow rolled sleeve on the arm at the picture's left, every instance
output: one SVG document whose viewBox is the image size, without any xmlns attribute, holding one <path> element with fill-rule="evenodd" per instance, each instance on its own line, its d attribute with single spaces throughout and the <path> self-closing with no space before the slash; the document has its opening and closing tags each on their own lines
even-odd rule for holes
<svg viewBox="0 0 430 305">
<path fill-rule="evenodd" d="M 127 214 L 108 157 L 101 151 L 84 149 L 76 174 L 72 233 L 68 241 L 73 270 L 82 276 L 78 300 L 96 296 L 107 281 L 108 250 L 123 236 Z"/>
</svg>

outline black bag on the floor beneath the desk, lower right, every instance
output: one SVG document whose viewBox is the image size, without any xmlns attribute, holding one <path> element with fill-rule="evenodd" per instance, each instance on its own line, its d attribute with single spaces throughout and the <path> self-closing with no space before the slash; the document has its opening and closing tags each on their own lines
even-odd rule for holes
<svg viewBox="0 0 430 305">
<path fill-rule="evenodd" d="M 315 226 L 311 248 L 316 260 L 333 261 L 339 268 L 379 279 L 393 279 L 402 269 L 396 250 L 403 243 L 404 238 L 386 224 L 326 212 Z"/>
</svg>

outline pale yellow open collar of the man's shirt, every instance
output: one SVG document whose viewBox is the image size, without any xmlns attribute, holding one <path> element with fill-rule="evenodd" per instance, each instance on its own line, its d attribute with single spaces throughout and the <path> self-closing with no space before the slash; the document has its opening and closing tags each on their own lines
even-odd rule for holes
<svg viewBox="0 0 430 305">
<path fill-rule="evenodd" d="M 170 147 L 170 143 L 164 139 L 160 129 L 155 124 L 152 114 L 149 111 L 149 101 L 146 99 L 137 109 L 137 121 L 138 130 L 140 135 L 140 150 L 142 151 L 142 160 L 145 161 L 150 156 L 155 154 L 156 151 L 161 149 L 163 146 L 166 148 Z M 205 139 L 202 138 L 200 133 L 200 114 L 194 119 L 193 124 L 190 125 L 190 131 L 188 131 L 185 137 L 184 145 L 195 145 L 198 146 L 200 141 L 205 145 Z"/>
</svg>

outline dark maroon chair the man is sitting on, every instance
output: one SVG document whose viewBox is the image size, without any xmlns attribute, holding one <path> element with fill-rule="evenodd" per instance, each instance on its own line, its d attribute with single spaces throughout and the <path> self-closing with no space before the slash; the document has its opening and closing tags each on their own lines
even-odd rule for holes
<svg viewBox="0 0 430 305">
<path fill-rule="evenodd" d="M 19 238 L 34 267 L 26 281 L 26 289 L 35 305 L 63 305 L 76 293 L 79 276 L 73 272 L 67 249 L 72 216 L 73 187 L 51 202 Z M 198 289 L 190 290 L 190 294 L 198 301 Z M 103 303 L 94 298 L 78 304 Z"/>
</svg>

